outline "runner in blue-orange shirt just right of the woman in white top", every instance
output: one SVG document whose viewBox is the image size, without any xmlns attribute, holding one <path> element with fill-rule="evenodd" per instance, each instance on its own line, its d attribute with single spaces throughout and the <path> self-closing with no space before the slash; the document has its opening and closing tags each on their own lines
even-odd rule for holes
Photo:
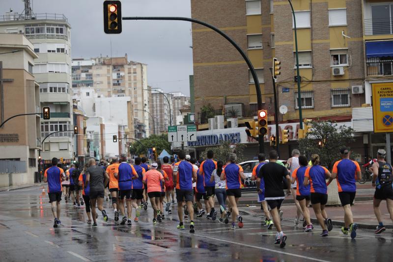
<svg viewBox="0 0 393 262">
<path fill-rule="evenodd" d="M 243 217 L 239 215 L 239 209 L 237 203 L 239 198 L 242 196 L 241 184 L 242 180 L 246 176 L 243 174 L 243 168 L 236 165 L 236 154 L 229 156 L 230 164 L 226 165 L 223 172 L 221 173 L 221 180 L 226 180 L 226 196 L 228 197 L 229 204 L 232 208 L 232 225 L 231 229 L 235 229 L 235 220 L 237 218 L 238 227 L 243 228 Z"/>
</svg>

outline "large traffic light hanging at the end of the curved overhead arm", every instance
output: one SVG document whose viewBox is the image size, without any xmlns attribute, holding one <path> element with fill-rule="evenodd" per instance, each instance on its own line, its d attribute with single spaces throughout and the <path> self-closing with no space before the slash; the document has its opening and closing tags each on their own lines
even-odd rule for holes
<svg viewBox="0 0 393 262">
<path fill-rule="evenodd" d="M 104 1 L 104 32 L 121 33 L 121 2 Z"/>
</svg>

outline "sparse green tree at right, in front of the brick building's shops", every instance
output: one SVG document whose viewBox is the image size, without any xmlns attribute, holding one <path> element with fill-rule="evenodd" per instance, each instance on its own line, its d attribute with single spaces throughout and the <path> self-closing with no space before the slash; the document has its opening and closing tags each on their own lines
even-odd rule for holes
<svg viewBox="0 0 393 262">
<path fill-rule="evenodd" d="M 340 159 L 339 148 L 355 141 L 354 130 L 345 125 L 338 127 L 337 122 L 332 120 L 311 121 L 310 125 L 306 137 L 299 140 L 300 152 L 308 156 L 318 154 L 321 165 L 332 170 L 334 163 Z"/>
</svg>

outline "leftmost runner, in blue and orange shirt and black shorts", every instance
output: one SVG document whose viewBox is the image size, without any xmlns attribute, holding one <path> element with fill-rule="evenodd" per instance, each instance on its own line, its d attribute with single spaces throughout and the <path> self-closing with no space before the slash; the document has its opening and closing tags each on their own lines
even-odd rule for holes
<svg viewBox="0 0 393 262">
<path fill-rule="evenodd" d="M 52 214 L 55 218 L 53 224 L 54 228 L 60 225 L 60 201 L 61 201 L 61 181 L 65 180 L 64 170 L 57 167 L 58 159 L 56 157 L 52 158 L 52 167 L 45 170 L 44 182 L 48 182 L 48 196 L 49 203 L 51 203 Z"/>
</svg>

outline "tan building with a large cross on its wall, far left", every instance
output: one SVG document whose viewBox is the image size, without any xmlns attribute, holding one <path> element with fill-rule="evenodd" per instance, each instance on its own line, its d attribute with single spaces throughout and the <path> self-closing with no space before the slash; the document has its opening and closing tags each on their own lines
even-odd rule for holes
<svg viewBox="0 0 393 262">
<path fill-rule="evenodd" d="M 23 34 L 0 33 L 0 85 L 4 104 L 1 122 L 11 116 L 40 112 L 39 85 L 34 79 L 33 44 Z M 0 186 L 29 184 L 38 180 L 41 149 L 40 116 L 17 116 L 0 129 Z"/>
</svg>

